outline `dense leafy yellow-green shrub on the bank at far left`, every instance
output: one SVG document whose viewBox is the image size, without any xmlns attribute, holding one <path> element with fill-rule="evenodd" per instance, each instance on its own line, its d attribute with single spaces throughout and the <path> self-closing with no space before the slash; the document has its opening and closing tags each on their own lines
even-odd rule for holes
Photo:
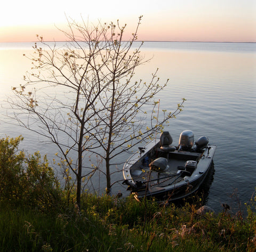
<svg viewBox="0 0 256 252">
<path fill-rule="evenodd" d="M 21 136 L 0 140 L 0 200 L 39 210 L 57 207 L 61 194 L 53 169 L 39 152 L 26 157 L 18 149 L 22 140 Z"/>
</svg>

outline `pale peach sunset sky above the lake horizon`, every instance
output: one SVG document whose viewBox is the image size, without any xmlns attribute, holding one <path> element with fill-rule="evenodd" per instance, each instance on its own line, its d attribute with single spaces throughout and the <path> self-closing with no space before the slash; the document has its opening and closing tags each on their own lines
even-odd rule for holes
<svg viewBox="0 0 256 252">
<path fill-rule="evenodd" d="M 0 42 L 65 40 L 66 16 L 127 24 L 127 39 L 143 15 L 139 40 L 256 42 L 255 0 L 5 0 Z"/>
</svg>

